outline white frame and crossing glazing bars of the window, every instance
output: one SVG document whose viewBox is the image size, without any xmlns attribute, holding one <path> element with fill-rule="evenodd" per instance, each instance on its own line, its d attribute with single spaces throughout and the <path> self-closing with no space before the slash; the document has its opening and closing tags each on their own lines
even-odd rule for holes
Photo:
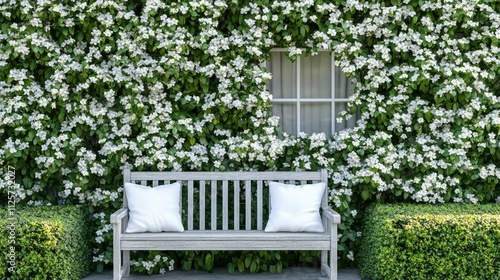
<svg viewBox="0 0 500 280">
<path fill-rule="evenodd" d="M 278 52 L 278 53 L 283 53 L 283 52 L 288 52 L 288 49 L 286 48 L 273 48 L 271 49 L 271 52 Z M 325 50 L 325 49 L 320 49 L 318 50 L 318 52 L 330 52 L 329 50 Z M 300 80 L 301 80 L 301 73 L 300 73 L 300 63 L 301 63 L 301 56 L 298 56 L 295 63 L 296 63 L 296 71 L 297 71 L 297 79 L 296 79 L 296 88 L 297 88 L 297 95 L 295 96 L 295 98 L 275 98 L 273 96 L 272 100 L 271 100 L 271 103 L 274 104 L 274 103 L 288 103 L 288 104 L 295 104 L 295 110 L 296 110 L 296 114 L 297 114 L 297 123 L 296 123 L 296 131 L 297 131 L 297 134 L 301 133 L 301 126 L 300 126 L 300 123 L 301 123 L 301 104 L 302 103 L 324 103 L 324 104 L 330 104 L 330 107 L 331 107 L 331 112 L 330 112 L 330 117 L 331 117 L 331 133 L 332 135 L 336 132 L 335 130 L 335 124 L 337 123 L 336 121 L 336 116 L 337 116 L 337 112 L 336 112 L 336 106 L 337 104 L 345 104 L 347 106 L 347 104 L 349 103 L 350 99 L 347 97 L 347 98 L 337 98 L 335 97 L 335 70 L 336 70 L 336 66 L 335 66 L 335 60 L 333 58 L 333 55 L 330 54 L 330 57 L 331 57 L 331 69 L 330 69 L 330 75 L 331 75 L 331 90 L 330 90 L 330 98 L 304 98 L 304 97 L 301 97 L 300 95 Z M 264 62 L 264 67 L 265 67 L 265 62 Z M 272 94 L 272 92 L 271 92 Z M 328 136 L 328 135 L 327 135 Z"/>
</svg>

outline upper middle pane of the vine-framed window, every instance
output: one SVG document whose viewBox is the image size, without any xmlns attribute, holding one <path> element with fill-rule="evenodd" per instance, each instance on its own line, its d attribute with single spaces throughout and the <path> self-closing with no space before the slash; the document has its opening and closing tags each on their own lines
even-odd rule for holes
<svg viewBox="0 0 500 280">
<path fill-rule="evenodd" d="M 331 98 L 332 59 L 329 53 L 302 56 L 300 60 L 300 97 Z"/>
</svg>

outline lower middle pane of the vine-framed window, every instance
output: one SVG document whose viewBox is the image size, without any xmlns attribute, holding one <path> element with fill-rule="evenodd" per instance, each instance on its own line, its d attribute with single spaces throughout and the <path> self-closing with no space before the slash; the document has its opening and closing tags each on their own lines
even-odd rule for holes
<svg viewBox="0 0 500 280">
<path fill-rule="evenodd" d="M 307 134 L 324 132 L 332 134 L 331 103 L 302 103 L 300 105 L 300 130 Z"/>
</svg>

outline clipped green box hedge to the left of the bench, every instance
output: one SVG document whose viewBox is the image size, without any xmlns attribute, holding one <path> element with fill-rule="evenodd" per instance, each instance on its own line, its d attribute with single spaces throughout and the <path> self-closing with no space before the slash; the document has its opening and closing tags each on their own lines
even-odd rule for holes
<svg viewBox="0 0 500 280">
<path fill-rule="evenodd" d="M 2 208 L 0 279 L 69 280 L 90 272 L 91 232 L 82 207 Z"/>
</svg>

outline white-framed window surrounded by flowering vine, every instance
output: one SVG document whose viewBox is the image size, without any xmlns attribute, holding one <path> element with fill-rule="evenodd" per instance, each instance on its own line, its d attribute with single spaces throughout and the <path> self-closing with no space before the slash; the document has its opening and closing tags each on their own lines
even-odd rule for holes
<svg viewBox="0 0 500 280">
<path fill-rule="evenodd" d="M 337 69 L 327 51 L 300 56 L 291 62 L 286 49 L 273 49 L 267 69 L 273 74 L 268 90 L 273 95 L 273 114 L 280 117 L 282 132 L 298 135 L 324 132 L 327 136 L 354 127 L 356 118 L 337 123 L 354 89 Z"/>
</svg>

